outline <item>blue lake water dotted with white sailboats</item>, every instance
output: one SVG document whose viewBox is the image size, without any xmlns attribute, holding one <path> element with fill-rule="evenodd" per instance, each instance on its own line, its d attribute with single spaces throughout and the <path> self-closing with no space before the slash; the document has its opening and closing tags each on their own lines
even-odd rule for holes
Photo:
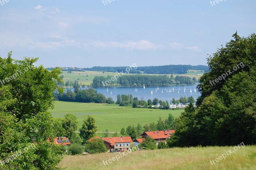
<svg viewBox="0 0 256 170">
<path fill-rule="evenodd" d="M 98 93 L 102 93 L 106 97 L 112 97 L 114 101 L 116 101 L 116 95 L 122 95 L 122 94 L 132 94 L 133 97 L 138 97 L 140 100 L 141 97 L 144 98 L 144 100 L 148 101 L 148 99 L 153 100 L 155 97 L 158 98 L 158 100 L 167 100 L 170 103 L 170 100 L 174 97 L 176 100 L 180 99 L 180 97 L 190 97 L 193 96 L 196 100 L 197 97 L 199 97 L 201 94 L 199 92 L 194 92 L 194 89 L 196 88 L 196 85 L 177 85 L 177 86 L 157 86 L 156 87 L 146 87 L 143 89 L 143 87 L 137 87 L 138 91 L 135 91 L 135 87 L 108 87 L 108 91 L 106 87 L 93 87 L 93 89 L 97 90 Z M 174 89 L 175 92 L 169 93 L 169 89 Z M 178 93 L 178 90 L 180 88 L 180 93 Z M 184 93 L 184 88 L 186 88 L 186 91 Z M 66 88 L 72 89 L 74 91 L 74 88 Z M 80 88 L 80 89 L 88 89 L 88 88 Z M 192 90 L 192 93 L 190 93 L 190 89 Z M 151 94 L 151 90 L 153 91 L 153 94 Z M 163 93 L 162 93 L 163 90 Z M 168 92 L 166 92 L 168 90 Z M 112 94 L 110 94 L 112 92 Z"/>
</svg>

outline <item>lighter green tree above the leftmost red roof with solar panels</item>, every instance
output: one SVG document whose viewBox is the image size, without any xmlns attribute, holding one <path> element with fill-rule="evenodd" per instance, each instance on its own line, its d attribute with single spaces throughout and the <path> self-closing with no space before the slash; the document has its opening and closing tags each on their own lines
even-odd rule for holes
<svg viewBox="0 0 256 170">
<path fill-rule="evenodd" d="M 62 119 L 62 128 L 65 129 L 65 136 L 71 139 L 71 136 L 74 134 L 74 131 L 77 129 L 77 117 L 72 113 L 67 113 Z"/>
</svg>

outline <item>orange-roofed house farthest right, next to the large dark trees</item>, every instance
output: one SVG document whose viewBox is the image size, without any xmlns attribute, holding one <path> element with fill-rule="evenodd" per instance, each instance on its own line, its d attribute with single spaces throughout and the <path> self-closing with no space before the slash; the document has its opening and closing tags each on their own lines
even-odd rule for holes
<svg viewBox="0 0 256 170">
<path fill-rule="evenodd" d="M 156 141 L 156 145 L 158 145 L 159 142 L 167 142 L 167 139 L 172 136 L 172 134 L 175 133 L 175 130 L 161 130 L 161 131 L 149 131 L 144 132 L 141 134 L 142 138 L 146 138 L 147 136 L 152 137 Z"/>
</svg>

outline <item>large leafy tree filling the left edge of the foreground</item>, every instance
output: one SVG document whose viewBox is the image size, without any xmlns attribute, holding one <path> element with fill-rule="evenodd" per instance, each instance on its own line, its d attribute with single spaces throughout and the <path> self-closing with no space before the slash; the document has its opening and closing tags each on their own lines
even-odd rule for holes
<svg viewBox="0 0 256 170">
<path fill-rule="evenodd" d="M 53 139 L 64 129 L 48 112 L 58 88 L 53 80 L 61 82 L 61 72 L 58 67 L 49 72 L 33 66 L 37 60 L 15 60 L 12 51 L 7 58 L 0 57 L 0 160 L 6 161 L 1 169 L 56 169 L 63 158 L 65 148 Z M 30 149 L 9 162 L 26 147 Z"/>
</svg>

